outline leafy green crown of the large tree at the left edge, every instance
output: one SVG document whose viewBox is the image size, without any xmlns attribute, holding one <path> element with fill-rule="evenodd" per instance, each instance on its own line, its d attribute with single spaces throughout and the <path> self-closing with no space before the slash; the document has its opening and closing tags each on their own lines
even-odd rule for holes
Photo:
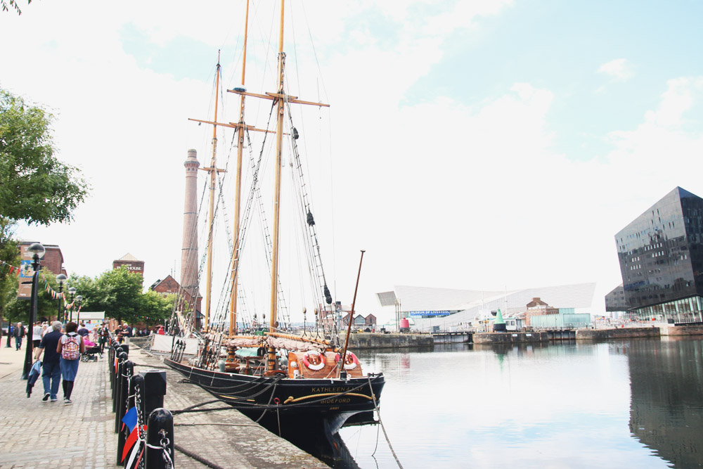
<svg viewBox="0 0 703 469">
<path fill-rule="evenodd" d="M 10 223 L 70 221 L 88 194 L 79 169 L 53 156 L 52 120 L 0 89 L 0 217 Z"/>
</svg>

